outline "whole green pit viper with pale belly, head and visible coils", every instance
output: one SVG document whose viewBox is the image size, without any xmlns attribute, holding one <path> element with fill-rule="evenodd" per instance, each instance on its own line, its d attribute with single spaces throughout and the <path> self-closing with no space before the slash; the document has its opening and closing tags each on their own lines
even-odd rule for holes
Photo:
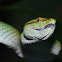
<svg viewBox="0 0 62 62">
<path fill-rule="evenodd" d="M 55 23 L 56 23 L 56 20 L 54 18 L 38 17 L 36 19 L 28 21 L 24 25 L 23 32 L 20 34 L 20 32 L 13 26 L 0 21 L 0 43 L 15 49 L 16 50 L 15 52 L 17 53 L 17 55 L 21 58 L 24 58 L 25 55 L 23 54 L 23 49 L 21 45 L 22 46 L 24 46 L 25 44 L 31 45 L 39 42 L 39 40 L 41 40 L 40 41 L 41 43 L 45 42 L 43 40 L 47 40 L 53 34 L 55 30 Z M 31 46 L 28 46 L 28 47 L 31 47 Z M 60 50 L 61 50 L 61 43 L 58 40 L 56 40 L 50 48 L 50 53 L 53 55 L 58 55 Z M 42 53 L 42 51 L 40 53 Z M 29 53 L 27 53 L 27 55 L 28 54 Z M 40 56 L 43 56 L 43 55 L 40 55 Z M 29 57 L 30 57 L 30 54 L 29 54 Z M 36 57 L 33 57 L 33 60 L 34 58 L 37 59 Z"/>
</svg>

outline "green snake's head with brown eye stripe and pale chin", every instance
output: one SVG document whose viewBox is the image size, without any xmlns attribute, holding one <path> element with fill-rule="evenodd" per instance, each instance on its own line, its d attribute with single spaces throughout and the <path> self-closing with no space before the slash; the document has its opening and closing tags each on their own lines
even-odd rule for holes
<svg viewBox="0 0 62 62">
<path fill-rule="evenodd" d="M 29 39 L 46 40 L 54 32 L 55 23 L 54 18 L 38 17 L 25 24 L 23 34 Z"/>
</svg>

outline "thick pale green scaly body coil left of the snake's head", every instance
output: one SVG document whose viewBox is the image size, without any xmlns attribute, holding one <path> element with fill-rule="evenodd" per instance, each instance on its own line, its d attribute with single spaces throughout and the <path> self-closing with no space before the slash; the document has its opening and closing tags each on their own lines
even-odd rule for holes
<svg viewBox="0 0 62 62">
<path fill-rule="evenodd" d="M 23 57 L 20 46 L 20 32 L 4 22 L 0 22 L 0 43 L 15 49 L 18 56 Z"/>
</svg>

